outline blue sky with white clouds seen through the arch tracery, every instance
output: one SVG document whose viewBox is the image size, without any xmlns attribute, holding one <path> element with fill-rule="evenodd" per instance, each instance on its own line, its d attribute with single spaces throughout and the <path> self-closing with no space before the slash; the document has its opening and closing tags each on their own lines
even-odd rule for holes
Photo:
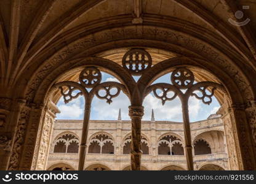
<svg viewBox="0 0 256 184">
<path fill-rule="evenodd" d="M 102 82 L 118 81 L 113 76 L 102 72 Z M 166 74 L 156 80 L 154 83 L 165 82 L 170 83 L 170 74 Z M 92 101 L 92 110 L 90 120 L 117 120 L 119 109 L 122 112 L 122 120 L 130 120 L 128 116 L 128 106 L 130 102 L 126 94 L 119 94 L 113 99 L 111 104 L 107 104 L 105 100 L 98 99 L 96 96 Z M 61 113 L 57 114 L 57 119 L 81 120 L 84 115 L 84 99 L 79 96 L 77 99 L 65 104 L 63 98 L 57 104 Z M 143 120 L 150 120 L 151 109 L 154 109 L 154 117 L 156 120 L 165 121 L 182 121 L 182 107 L 178 97 L 173 101 L 166 101 L 163 106 L 160 99 L 157 99 L 153 94 L 146 96 L 143 106 L 145 115 Z M 210 105 L 205 105 L 195 97 L 191 97 L 189 101 L 190 121 L 205 120 L 210 114 L 215 113 L 220 105 L 217 99 L 213 98 Z"/>
</svg>

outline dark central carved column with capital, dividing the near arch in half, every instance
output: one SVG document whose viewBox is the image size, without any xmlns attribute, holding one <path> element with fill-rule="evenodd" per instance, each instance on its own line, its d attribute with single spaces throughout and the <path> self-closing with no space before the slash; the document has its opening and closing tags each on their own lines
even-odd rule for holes
<svg viewBox="0 0 256 184">
<path fill-rule="evenodd" d="M 129 106 L 129 116 L 132 120 L 131 169 L 136 171 L 140 171 L 142 158 L 141 130 L 143 115 L 143 106 Z"/>
</svg>

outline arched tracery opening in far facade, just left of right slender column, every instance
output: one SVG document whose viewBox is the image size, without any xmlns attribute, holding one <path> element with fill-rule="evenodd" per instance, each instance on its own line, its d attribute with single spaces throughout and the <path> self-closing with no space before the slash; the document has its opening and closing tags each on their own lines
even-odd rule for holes
<svg viewBox="0 0 256 184">
<path fill-rule="evenodd" d="M 164 136 L 158 142 L 158 155 L 184 155 L 182 142 L 175 136 Z"/>
</svg>

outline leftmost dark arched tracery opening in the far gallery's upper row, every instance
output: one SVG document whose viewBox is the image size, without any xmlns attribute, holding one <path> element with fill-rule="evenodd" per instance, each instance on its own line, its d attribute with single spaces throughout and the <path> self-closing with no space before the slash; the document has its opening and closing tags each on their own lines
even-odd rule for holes
<svg viewBox="0 0 256 184">
<path fill-rule="evenodd" d="M 72 134 L 65 134 L 58 137 L 54 145 L 54 153 L 78 153 L 79 140 Z"/>
</svg>

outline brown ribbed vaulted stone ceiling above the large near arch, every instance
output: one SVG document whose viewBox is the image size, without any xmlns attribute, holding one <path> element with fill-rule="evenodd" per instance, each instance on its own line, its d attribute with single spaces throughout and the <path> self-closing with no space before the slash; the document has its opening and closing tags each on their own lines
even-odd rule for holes
<svg viewBox="0 0 256 184">
<path fill-rule="evenodd" d="M 11 90 L 18 80 L 33 75 L 44 61 L 82 36 L 111 29 L 110 25 L 133 25 L 135 10 L 134 0 L 1 0 L 1 86 Z M 249 24 L 234 26 L 228 22 L 228 18 L 241 21 L 234 17 L 238 10 L 244 12 L 242 20 L 250 18 Z M 209 34 L 216 39 L 209 44 L 226 45 L 244 59 L 244 64 L 255 69 L 255 12 L 253 0 L 142 0 L 143 23 L 138 25 L 165 25 L 191 35 L 196 33 L 188 27 L 200 28 L 199 36 Z M 114 48 L 95 56 L 119 63 L 128 49 Z M 156 49 L 154 45 L 148 45 L 147 49 L 154 63 L 180 56 L 180 53 Z M 28 80 L 29 77 L 25 81 Z M 5 92 L 1 90 L 0 94 Z"/>
</svg>

